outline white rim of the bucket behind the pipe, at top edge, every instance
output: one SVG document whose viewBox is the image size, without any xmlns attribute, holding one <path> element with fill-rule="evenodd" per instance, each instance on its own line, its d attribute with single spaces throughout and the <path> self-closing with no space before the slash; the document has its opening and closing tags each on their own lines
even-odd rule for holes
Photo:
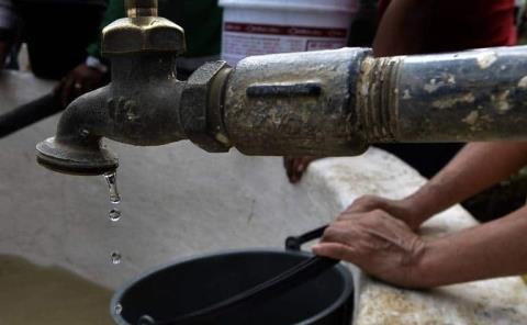
<svg viewBox="0 0 527 325">
<path fill-rule="evenodd" d="M 244 9 L 279 9 L 280 11 L 317 11 L 317 12 L 345 12 L 345 13 L 357 13 L 359 11 L 359 4 L 356 4 L 352 8 L 344 8 L 343 5 L 328 5 L 328 4 L 310 4 L 306 7 L 300 3 L 270 3 L 270 2 L 260 2 L 260 3 L 244 3 L 240 0 L 220 0 L 218 5 L 225 9 L 228 8 L 244 8 Z"/>
</svg>

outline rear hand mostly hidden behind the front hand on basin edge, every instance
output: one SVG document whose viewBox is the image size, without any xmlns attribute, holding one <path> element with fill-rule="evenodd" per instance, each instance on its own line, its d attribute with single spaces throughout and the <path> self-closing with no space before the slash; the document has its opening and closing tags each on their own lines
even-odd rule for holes
<svg viewBox="0 0 527 325">
<path fill-rule="evenodd" d="M 389 200 L 375 195 L 365 195 L 351 203 L 339 216 L 338 221 L 352 218 L 358 213 L 382 210 L 391 216 L 403 221 L 413 231 L 417 229 L 427 215 L 411 199 Z"/>
</svg>

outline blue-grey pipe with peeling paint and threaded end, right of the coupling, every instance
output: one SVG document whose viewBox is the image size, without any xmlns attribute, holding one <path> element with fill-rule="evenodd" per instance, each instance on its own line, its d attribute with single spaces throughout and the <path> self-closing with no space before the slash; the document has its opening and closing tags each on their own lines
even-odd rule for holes
<svg viewBox="0 0 527 325">
<path fill-rule="evenodd" d="M 527 139 L 525 46 L 362 65 L 358 102 L 370 143 Z"/>
</svg>

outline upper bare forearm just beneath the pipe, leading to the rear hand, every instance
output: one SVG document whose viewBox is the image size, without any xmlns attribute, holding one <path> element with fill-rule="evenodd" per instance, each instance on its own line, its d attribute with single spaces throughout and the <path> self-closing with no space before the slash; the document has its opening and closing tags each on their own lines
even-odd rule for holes
<svg viewBox="0 0 527 325">
<path fill-rule="evenodd" d="M 436 177 L 404 199 L 419 225 L 527 165 L 527 143 L 468 144 Z"/>
</svg>

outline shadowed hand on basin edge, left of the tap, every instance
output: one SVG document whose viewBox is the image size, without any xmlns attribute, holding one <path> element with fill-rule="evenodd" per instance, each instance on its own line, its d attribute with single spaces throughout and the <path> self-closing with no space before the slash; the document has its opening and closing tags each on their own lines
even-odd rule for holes
<svg viewBox="0 0 527 325">
<path fill-rule="evenodd" d="M 103 78 L 104 74 L 99 69 L 81 64 L 63 78 L 55 92 L 63 105 L 67 107 L 79 96 L 102 86 Z"/>
</svg>

